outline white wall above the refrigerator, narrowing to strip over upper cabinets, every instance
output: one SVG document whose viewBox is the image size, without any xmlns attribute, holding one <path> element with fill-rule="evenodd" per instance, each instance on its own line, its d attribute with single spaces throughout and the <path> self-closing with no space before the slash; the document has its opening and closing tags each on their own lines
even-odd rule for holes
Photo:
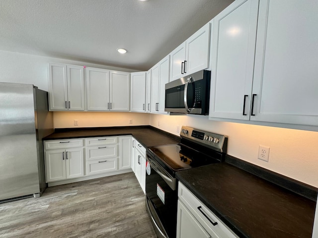
<svg viewBox="0 0 318 238">
<path fill-rule="evenodd" d="M 33 84 L 39 89 L 48 91 L 49 62 L 86 65 L 126 72 L 135 71 L 87 62 L 0 51 L 0 82 Z"/>
</svg>

